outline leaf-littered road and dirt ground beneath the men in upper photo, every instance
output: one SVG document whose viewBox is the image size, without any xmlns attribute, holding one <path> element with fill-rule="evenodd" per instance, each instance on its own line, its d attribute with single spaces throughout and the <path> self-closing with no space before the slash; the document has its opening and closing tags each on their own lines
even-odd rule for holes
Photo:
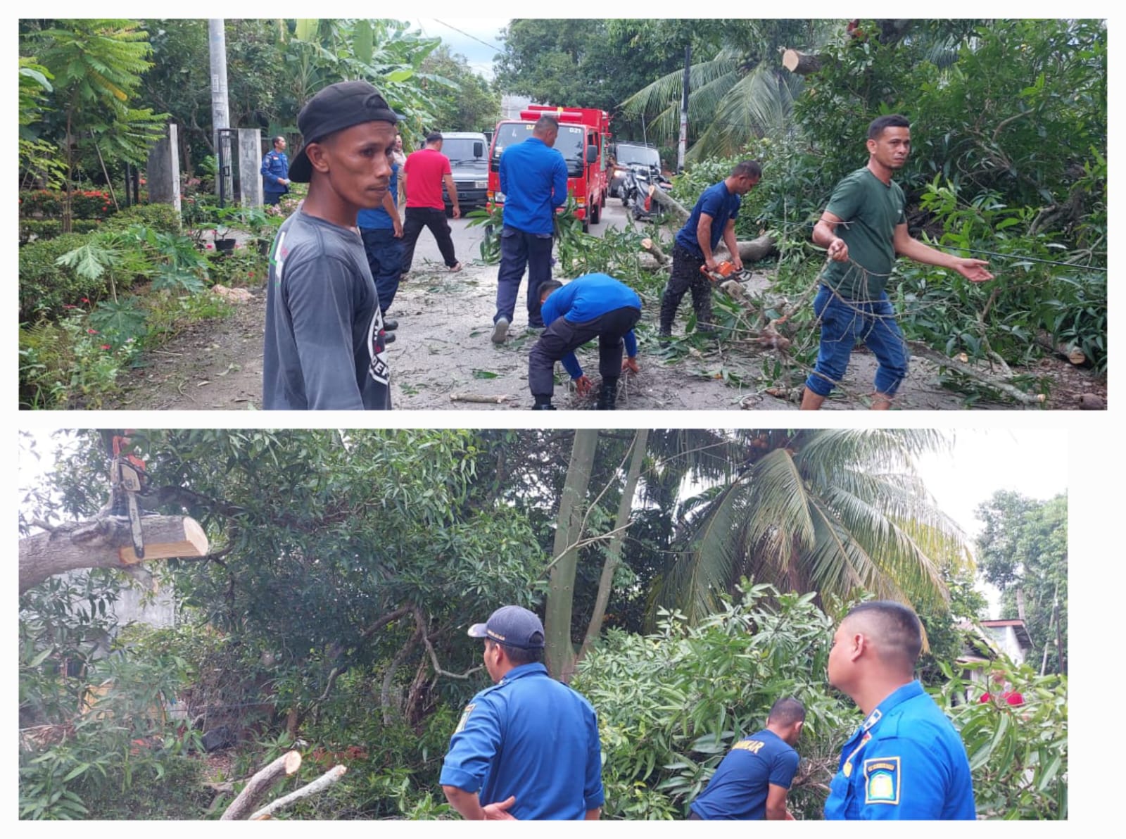
<svg viewBox="0 0 1126 839">
<path fill-rule="evenodd" d="M 261 404 L 262 327 L 265 289 L 256 288 L 249 303 L 218 322 L 196 323 L 173 341 L 143 359 L 143 366 L 123 376 L 124 395 L 110 409 L 132 410 L 247 410 Z M 497 293 L 494 266 L 468 265 L 450 275 L 441 265 L 415 264 L 412 277 L 402 284 L 390 316 L 400 322 L 396 340 L 388 347 L 393 403 L 403 410 L 526 410 L 528 350 L 535 336 L 526 330 L 524 291 L 517 302 L 516 322 L 501 346 L 490 341 Z M 687 309 L 687 303 L 682 305 Z M 645 312 L 643 322 L 654 312 Z M 683 312 L 681 312 L 681 318 Z M 682 325 L 682 322 L 681 322 Z M 676 330 L 676 331 L 679 331 Z M 624 377 L 618 408 L 626 410 L 796 410 L 796 394 L 779 399 L 758 383 L 759 365 L 774 364 L 771 356 L 752 356 L 698 341 L 677 359 L 662 357 L 654 331 L 642 330 L 641 373 Z M 579 352 L 591 378 L 598 376 L 597 345 Z M 875 373 L 875 359 L 858 351 L 843 382 L 846 395 L 825 403 L 829 410 L 866 407 Z M 1106 403 L 1106 382 L 1072 367 L 1063 359 L 1045 358 L 1030 371 L 1053 381 L 1048 409 L 1078 409 L 1082 394 L 1094 394 Z M 723 381 L 726 375 L 727 381 Z M 556 368 L 556 382 L 566 378 Z M 492 398 L 494 402 L 461 398 Z M 457 396 L 458 399 L 455 399 Z M 556 386 L 560 409 L 587 409 L 592 399 L 581 399 L 570 384 Z M 896 398 L 899 410 L 959 410 L 964 396 L 944 387 L 938 369 L 913 358 L 911 375 Z M 984 400 L 974 409 L 1020 410 L 1012 403 Z M 1036 410 L 1034 408 L 1034 410 Z"/>
</svg>

